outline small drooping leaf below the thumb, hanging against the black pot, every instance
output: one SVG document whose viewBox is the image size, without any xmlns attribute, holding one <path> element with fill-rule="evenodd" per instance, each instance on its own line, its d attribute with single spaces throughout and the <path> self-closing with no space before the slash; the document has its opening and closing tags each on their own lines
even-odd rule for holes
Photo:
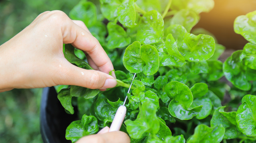
<svg viewBox="0 0 256 143">
<path fill-rule="evenodd" d="M 61 105 L 70 112 L 74 114 L 74 108 L 71 103 L 72 96 L 70 95 L 70 88 L 63 88 L 59 91 L 57 95 Z"/>
</svg>

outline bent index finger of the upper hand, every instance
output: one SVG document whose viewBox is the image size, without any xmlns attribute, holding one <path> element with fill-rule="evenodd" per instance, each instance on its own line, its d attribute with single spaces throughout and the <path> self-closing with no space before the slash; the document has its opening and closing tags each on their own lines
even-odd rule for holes
<svg viewBox="0 0 256 143">
<path fill-rule="evenodd" d="M 109 73 L 114 69 L 113 64 L 100 45 L 99 41 L 85 29 L 75 24 L 71 19 L 62 28 L 63 43 L 73 43 L 75 47 L 85 51 L 99 71 Z"/>
</svg>

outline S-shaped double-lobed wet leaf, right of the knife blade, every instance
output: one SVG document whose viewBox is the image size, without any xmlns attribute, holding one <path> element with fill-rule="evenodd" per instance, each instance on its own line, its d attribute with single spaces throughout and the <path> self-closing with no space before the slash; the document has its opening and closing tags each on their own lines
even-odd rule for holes
<svg viewBox="0 0 256 143">
<path fill-rule="evenodd" d="M 193 102 L 193 96 L 190 89 L 177 81 L 165 85 L 165 92 L 173 98 L 168 109 L 172 116 L 181 120 L 192 119 L 201 111 L 202 105 L 190 108 Z"/>
</svg>

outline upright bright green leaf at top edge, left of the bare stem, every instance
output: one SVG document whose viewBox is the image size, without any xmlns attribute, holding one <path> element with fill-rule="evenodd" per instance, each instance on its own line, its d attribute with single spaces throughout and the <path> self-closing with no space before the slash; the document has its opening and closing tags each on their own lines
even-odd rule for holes
<svg viewBox="0 0 256 143">
<path fill-rule="evenodd" d="M 127 27 L 134 27 L 136 25 L 136 11 L 134 7 L 134 0 L 124 0 L 117 9 L 118 21 Z"/>
</svg>

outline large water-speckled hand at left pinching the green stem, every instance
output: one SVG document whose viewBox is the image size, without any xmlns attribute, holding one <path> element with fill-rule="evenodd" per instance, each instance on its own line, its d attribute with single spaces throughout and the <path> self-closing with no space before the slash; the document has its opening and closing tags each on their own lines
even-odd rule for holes
<svg viewBox="0 0 256 143">
<path fill-rule="evenodd" d="M 63 43 L 72 43 L 83 50 L 95 70 L 69 63 L 63 54 Z M 56 85 L 104 89 L 117 84 L 115 74 L 107 74 L 114 68 L 98 40 L 83 22 L 72 21 L 58 10 L 41 13 L 24 30 L 2 44 L 0 61 L 0 92 Z"/>
</svg>

